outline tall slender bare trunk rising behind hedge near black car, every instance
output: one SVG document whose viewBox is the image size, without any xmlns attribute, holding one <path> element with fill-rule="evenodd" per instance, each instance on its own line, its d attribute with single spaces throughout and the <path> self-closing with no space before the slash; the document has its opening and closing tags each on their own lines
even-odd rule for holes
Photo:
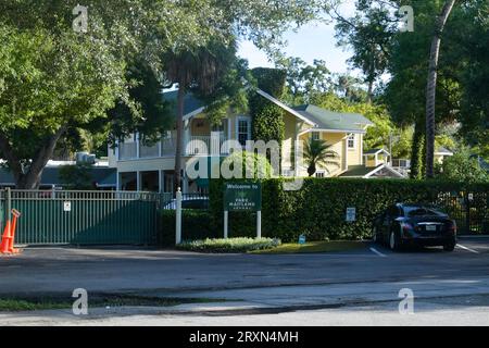
<svg viewBox="0 0 489 348">
<path fill-rule="evenodd" d="M 447 24 L 450 12 L 456 0 L 447 0 L 441 15 L 437 17 L 435 35 L 431 40 L 431 51 L 429 55 L 428 82 L 426 87 L 426 177 L 435 175 L 435 104 L 437 88 L 438 59 L 440 55 L 441 34 Z"/>
</svg>

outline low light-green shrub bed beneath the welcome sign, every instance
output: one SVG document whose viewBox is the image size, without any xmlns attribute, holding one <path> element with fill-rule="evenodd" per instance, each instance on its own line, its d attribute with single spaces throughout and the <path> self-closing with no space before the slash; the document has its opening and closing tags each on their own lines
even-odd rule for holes
<svg viewBox="0 0 489 348">
<path fill-rule="evenodd" d="M 272 238 L 228 238 L 184 241 L 178 249 L 199 252 L 247 252 L 271 249 L 280 245 L 280 240 Z"/>
</svg>

